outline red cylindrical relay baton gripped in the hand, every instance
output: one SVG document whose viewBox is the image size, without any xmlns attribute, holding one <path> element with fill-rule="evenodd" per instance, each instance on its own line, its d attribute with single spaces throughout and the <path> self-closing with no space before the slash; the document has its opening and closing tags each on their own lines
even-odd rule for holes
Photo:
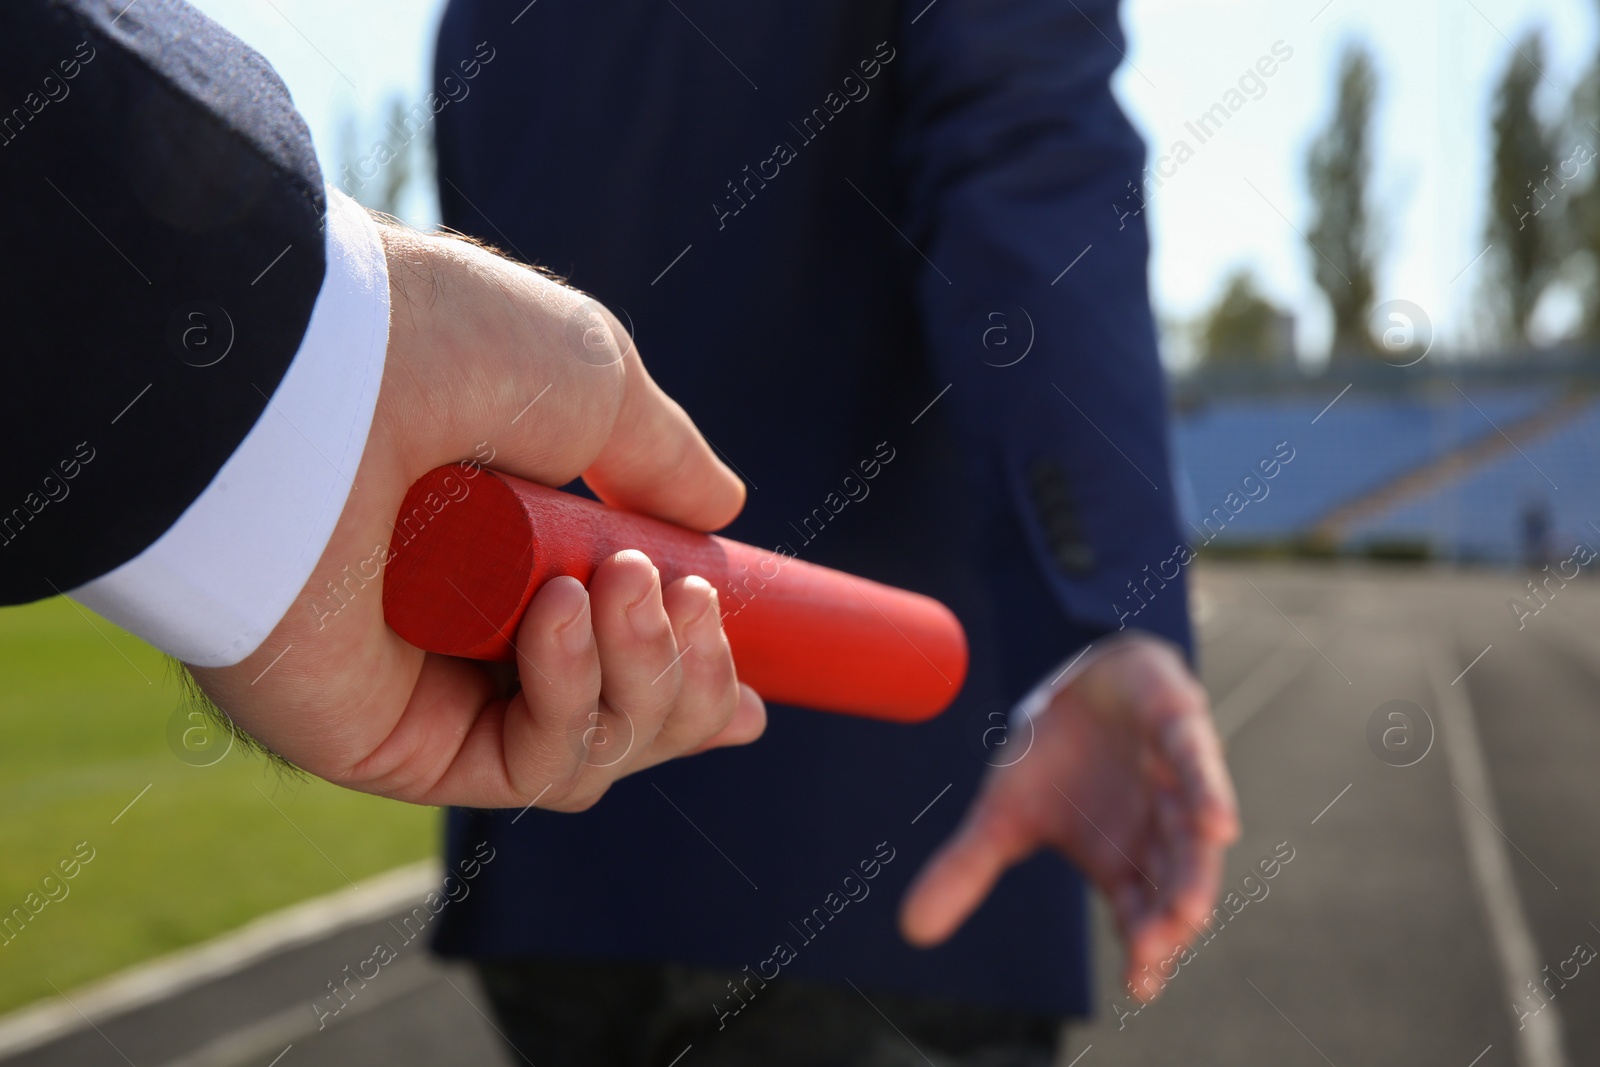
<svg viewBox="0 0 1600 1067">
<path fill-rule="evenodd" d="M 698 574 L 717 589 L 739 678 L 766 701 L 915 723 L 966 678 L 962 624 L 931 597 L 470 464 L 437 467 L 406 493 L 384 616 L 421 649 L 510 661 L 544 582 L 587 584 L 624 549 L 648 555 L 662 585 Z"/>
</svg>

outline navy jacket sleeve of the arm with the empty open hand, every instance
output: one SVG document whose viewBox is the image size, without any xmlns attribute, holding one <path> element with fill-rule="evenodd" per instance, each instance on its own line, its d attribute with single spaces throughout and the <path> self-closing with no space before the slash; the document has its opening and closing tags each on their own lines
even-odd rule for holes
<svg viewBox="0 0 1600 1067">
<path fill-rule="evenodd" d="M 1022 581 L 1080 632 L 1187 648 L 1115 2 L 914 0 L 899 46 L 923 328 L 941 403 L 1026 531 Z"/>
</svg>

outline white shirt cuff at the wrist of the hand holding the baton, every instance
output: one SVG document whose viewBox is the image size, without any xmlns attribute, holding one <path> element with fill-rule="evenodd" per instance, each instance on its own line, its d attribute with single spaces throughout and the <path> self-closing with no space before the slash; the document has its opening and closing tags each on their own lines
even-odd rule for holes
<svg viewBox="0 0 1600 1067">
<path fill-rule="evenodd" d="M 261 419 L 155 544 L 69 593 L 189 664 L 237 664 L 283 619 L 366 446 L 389 347 L 389 267 L 378 224 L 333 186 L 323 230 L 322 291 Z"/>
</svg>

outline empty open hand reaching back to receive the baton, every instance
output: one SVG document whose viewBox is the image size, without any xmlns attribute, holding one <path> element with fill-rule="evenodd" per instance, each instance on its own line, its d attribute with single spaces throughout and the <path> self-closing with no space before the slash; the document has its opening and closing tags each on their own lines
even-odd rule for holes
<svg viewBox="0 0 1600 1067">
<path fill-rule="evenodd" d="M 1195 937 L 1238 835 L 1205 691 L 1174 649 L 1134 635 L 1056 694 L 1032 737 L 1016 729 L 1027 755 L 990 773 L 907 894 L 902 929 L 944 941 L 1008 867 L 1050 846 L 1109 899 L 1133 981 Z"/>
</svg>

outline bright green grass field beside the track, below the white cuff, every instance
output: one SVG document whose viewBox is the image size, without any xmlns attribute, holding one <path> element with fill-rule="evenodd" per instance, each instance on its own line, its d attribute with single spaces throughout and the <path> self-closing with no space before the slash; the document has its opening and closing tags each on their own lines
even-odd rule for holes
<svg viewBox="0 0 1600 1067">
<path fill-rule="evenodd" d="M 179 704 L 168 661 L 93 613 L 0 609 L 0 915 L 43 897 L 78 841 L 94 849 L 64 899 L 0 936 L 0 1011 L 437 851 L 432 808 L 302 782 L 238 745 L 179 760 Z"/>
</svg>

